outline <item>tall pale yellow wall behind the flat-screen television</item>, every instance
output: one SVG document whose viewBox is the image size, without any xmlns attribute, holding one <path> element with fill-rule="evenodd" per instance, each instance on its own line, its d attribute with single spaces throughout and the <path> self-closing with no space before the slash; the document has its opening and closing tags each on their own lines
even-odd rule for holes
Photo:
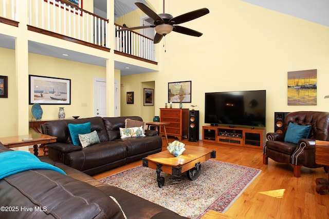
<svg viewBox="0 0 329 219">
<path fill-rule="evenodd" d="M 177 16 L 204 7 L 209 14 L 180 24 L 203 36 L 168 34 L 166 52 L 163 39 L 158 47 L 159 72 L 122 77 L 125 84 L 156 82 L 155 115 L 168 98 L 168 82 L 179 81 L 192 81 L 192 103 L 183 107 L 199 106 L 200 130 L 205 92 L 265 89 L 267 131 L 274 130 L 276 111 L 328 111 L 329 100 L 323 98 L 329 94 L 328 27 L 238 0 L 167 1 L 166 13 Z M 287 72 L 308 69 L 318 71 L 317 106 L 287 106 Z"/>
</svg>

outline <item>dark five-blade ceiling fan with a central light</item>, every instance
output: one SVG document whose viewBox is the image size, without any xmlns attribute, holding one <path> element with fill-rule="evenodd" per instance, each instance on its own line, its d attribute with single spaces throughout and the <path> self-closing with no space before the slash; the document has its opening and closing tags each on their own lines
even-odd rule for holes
<svg viewBox="0 0 329 219">
<path fill-rule="evenodd" d="M 163 36 L 166 36 L 171 31 L 175 31 L 178 33 L 190 35 L 190 36 L 202 36 L 202 33 L 192 30 L 186 27 L 178 26 L 177 24 L 182 24 L 188 21 L 192 21 L 198 17 L 206 15 L 209 13 L 207 8 L 198 9 L 195 11 L 191 11 L 185 14 L 181 14 L 179 16 L 173 17 L 171 14 L 165 13 L 165 0 L 163 0 L 163 13 L 156 14 L 152 9 L 143 3 L 135 2 L 135 5 L 142 10 L 145 14 L 151 17 L 154 21 L 154 25 L 150 26 L 140 26 L 140 27 L 130 27 L 130 28 L 122 28 L 117 31 L 126 31 L 126 30 L 137 30 L 144 28 L 155 28 L 156 34 L 154 36 L 154 44 L 157 44 L 161 41 Z"/>
</svg>

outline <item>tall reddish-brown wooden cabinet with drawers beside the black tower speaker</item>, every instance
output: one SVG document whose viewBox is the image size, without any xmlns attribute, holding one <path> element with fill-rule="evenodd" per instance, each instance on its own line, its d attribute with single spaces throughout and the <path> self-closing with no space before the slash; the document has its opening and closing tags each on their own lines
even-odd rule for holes
<svg viewBox="0 0 329 219">
<path fill-rule="evenodd" d="M 189 109 L 160 108 L 160 122 L 170 123 L 166 125 L 167 135 L 175 136 L 178 140 L 188 137 Z M 164 134 L 163 127 L 160 127 L 160 135 Z"/>
</svg>

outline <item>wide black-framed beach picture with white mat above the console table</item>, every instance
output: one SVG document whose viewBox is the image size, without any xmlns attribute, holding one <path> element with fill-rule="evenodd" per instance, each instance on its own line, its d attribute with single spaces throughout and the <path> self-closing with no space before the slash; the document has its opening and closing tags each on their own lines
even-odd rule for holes
<svg viewBox="0 0 329 219">
<path fill-rule="evenodd" d="M 29 104 L 71 104 L 71 79 L 29 75 Z"/>
</svg>

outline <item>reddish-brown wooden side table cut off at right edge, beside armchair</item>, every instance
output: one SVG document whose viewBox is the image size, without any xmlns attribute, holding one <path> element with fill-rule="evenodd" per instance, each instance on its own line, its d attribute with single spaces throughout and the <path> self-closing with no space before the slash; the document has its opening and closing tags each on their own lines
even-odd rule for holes
<svg viewBox="0 0 329 219">
<path fill-rule="evenodd" d="M 329 142 L 318 140 L 315 141 L 315 163 L 329 166 Z M 327 169 L 328 168 L 326 168 L 326 170 Z M 324 190 L 329 190 L 329 175 L 328 179 L 317 178 L 315 182 L 317 184 L 316 191 L 319 194 L 324 195 Z"/>
</svg>

